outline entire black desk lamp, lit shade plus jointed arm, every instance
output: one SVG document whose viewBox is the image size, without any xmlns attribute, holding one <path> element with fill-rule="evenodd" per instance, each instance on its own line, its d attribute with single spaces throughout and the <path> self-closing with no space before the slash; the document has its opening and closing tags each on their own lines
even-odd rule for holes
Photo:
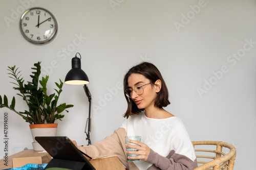
<svg viewBox="0 0 256 170">
<path fill-rule="evenodd" d="M 66 78 L 65 78 L 65 83 L 66 84 L 72 84 L 72 85 L 84 85 L 83 89 L 86 92 L 86 95 L 88 96 L 89 100 L 89 117 L 87 118 L 86 122 L 86 128 L 84 130 L 84 133 L 86 133 L 86 140 L 88 140 L 88 145 L 91 144 L 91 139 L 90 139 L 90 133 L 91 133 L 91 93 L 87 87 L 87 84 L 89 83 L 89 79 L 86 75 L 86 73 L 81 69 L 81 55 L 79 54 L 80 58 L 76 56 L 72 58 L 72 69 L 68 72 Z M 88 132 L 87 130 L 87 125 L 88 125 Z"/>
</svg>

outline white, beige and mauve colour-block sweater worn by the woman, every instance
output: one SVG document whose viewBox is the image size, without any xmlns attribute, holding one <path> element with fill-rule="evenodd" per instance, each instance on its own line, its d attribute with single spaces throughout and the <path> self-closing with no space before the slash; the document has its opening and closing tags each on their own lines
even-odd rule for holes
<svg viewBox="0 0 256 170">
<path fill-rule="evenodd" d="M 146 161 L 127 161 L 124 140 L 127 135 L 142 136 L 141 142 L 151 148 Z M 190 170 L 197 167 L 193 144 L 178 117 L 154 119 L 141 112 L 126 119 L 111 136 L 78 149 L 93 159 L 117 156 L 130 170 Z"/>
</svg>

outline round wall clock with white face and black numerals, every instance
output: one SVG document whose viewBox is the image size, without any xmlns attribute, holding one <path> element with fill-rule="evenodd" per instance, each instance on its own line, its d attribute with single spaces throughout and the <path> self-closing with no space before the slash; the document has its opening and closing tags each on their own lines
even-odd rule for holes
<svg viewBox="0 0 256 170">
<path fill-rule="evenodd" d="M 31 8 L 20 18 L 20 29 L 28 41 L 43 44 L 56 36 L 57 21 L 48 10 Z"/>
</svg>

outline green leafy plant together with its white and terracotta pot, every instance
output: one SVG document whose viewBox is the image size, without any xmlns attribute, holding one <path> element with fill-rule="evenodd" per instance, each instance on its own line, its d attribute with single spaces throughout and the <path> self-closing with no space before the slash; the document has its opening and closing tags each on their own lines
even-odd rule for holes
<svg viewBox="0 0 256 170">
<path fill-rule="evenodd" d="M 60 83 L 55 83 L 57 89 L 56 94 L 47 93 L 47 82 L 49 76 L 41 77 L 41 67 L 40 62 L 34 64 L 35 67 L 32 67 L 32 78 L 31 82 L 24 83 L 24 79 L 21 77 L 20 71 L 15 66 L 9 67 L 10 71 L 8 74 L 9 77 L 14 80 L 13 83 L 16 87 L 13 87 L 15 90 L 18 90 L 19 93 L 17 95 L 21 96 L 22 99 L 26 102 L 28 109 L 24 112 L 17 111 L 15 109 L 15 97 L 13 96 L 11 104 L 8 105 L 8 98 L 4 95 L 4 98 L 0 95 L 0 108 L 6 107 L 18 115 L 22 116 L 23 119 L 26 120 L 30 125 L 31 133 L 34 142 L 33 148 L 34 150 L 40 151 L 43 150 L 41 146 L 34 139 L 35 136 L 56 136 L 56 128 L 57 124 L 55 120 L 64 117 L 64 115 L 60 114 L 67 108 L 73 107 L 73 105 L 67 105 L 66 103 L 62 103 L 57 105 L 59 95 L 62 91 L 63 83 L 59 79 Z M 34 71 L 33 71 L 34 70 Z M 66 110 L 68 112 L 68 110 Z M 48 128 L 47 128 L 48 127 Z M 51 132 L 53 130 L 53 132 Z M 45 134 L 46 133 L 46 134 Z"/>
</svg>

